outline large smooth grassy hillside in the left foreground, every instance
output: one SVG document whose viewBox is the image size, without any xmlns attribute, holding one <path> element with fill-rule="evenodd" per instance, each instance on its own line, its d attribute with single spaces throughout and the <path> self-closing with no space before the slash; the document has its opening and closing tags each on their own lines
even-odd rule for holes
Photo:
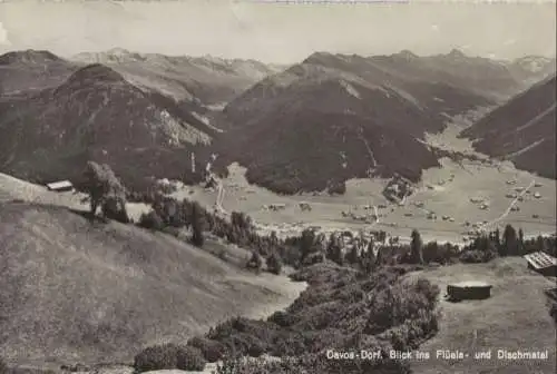
<svg viewBox="0 0 557 374">
<path fill-rule="evenodd" d="M 257 314 L 261 304 L 284 307 L 290 287 L 63 207 L 2 205 L 0 253 L 0 354 L 14 363 L 129 361 L 146 344 Z"/>
</svg>

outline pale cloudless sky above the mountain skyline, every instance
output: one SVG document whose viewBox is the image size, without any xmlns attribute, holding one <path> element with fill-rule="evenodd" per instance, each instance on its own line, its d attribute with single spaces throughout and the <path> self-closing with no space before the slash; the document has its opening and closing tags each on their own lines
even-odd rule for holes
<svg viewBox="0 0 557 374">
<path fill-rule="evenodd" d="M 457 48 L 498 59 L 555 56 L 555 1 L 332 2 L 0 0 L 0 52 L 48 49 L 71 56 L 125 48 L 277 63 L 314 51 L 436 55 Z"/>
</svg>

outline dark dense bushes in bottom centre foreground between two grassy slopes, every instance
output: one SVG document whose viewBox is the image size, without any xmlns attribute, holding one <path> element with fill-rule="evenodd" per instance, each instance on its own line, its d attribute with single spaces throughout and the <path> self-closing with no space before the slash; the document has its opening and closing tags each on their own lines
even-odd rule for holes
<svg viewBox="0 0 557 374">
<path fill-rule="evenodd" d="M 388 353 L 416 348 L 437 332 L 439 295 L 439 288 L 428 280 L 403 283 L 401 276 L 409 270 L 412 267 L 395 266 L 367 274 L 330 262 L 307 266 L 292 278 L 307 282 L 309 288 L 286 311 L 267 321 L 232 318 L 187 344 L 208 362 L 225 358 L 219 373 L 265 373 L 263 368 L 270 373 L 330 373 L 341 368 L 344 373 L 407 373 L 407 365 L 390 360 Z M 325 351 L 331 348 L 381 350 L 383 360 L 340 363 L 325 358 Z M 160 352 L 165 346 L 147 350 Z M 139 372 L 153 368 L 141 364 L 147 350 L 136 356 Z M 168 362 L 174 363 L 174 348 L 166 350 L 172 351 Z M 234 365 L 241 365 L 241 356 L 263 354 L 287 360 L 281 364 L 244 364 L 236 371 L 240 367 Z M 158 357 L 163 356 L 154 360 Z M 158 362 L 168 368 L 167 361 Z"/>
</svg>

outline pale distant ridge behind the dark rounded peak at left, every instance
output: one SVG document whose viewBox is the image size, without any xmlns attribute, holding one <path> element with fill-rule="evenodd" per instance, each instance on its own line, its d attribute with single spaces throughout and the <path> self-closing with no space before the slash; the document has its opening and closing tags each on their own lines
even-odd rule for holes
<svg viewBox="0 0 557 374">
<path fill-rule="evenodd" d="M 105 63 L 144 89 L 155 89 L 180 100 L 196 98 L 205 105 L 227 102 L 258 80 L 283 69 L 255 60 L 144 55 L 119 48 L 79 53 L 72 60 Z"/>
</svg>

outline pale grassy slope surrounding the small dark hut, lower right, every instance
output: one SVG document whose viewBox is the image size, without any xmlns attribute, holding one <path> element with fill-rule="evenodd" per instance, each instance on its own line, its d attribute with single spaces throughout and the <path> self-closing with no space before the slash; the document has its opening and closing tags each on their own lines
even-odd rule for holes
<svg viewBox="0 0 557 374">
<path fill-rule="evenodd" d="M 488 264 L 458 264 L 409 275 L 424 277 L 441 287 L 461 280 L 485 280 L 494 285 L 491 298 L 478 302 L 448 303 L 442 299 L 440 332 L 420 346 L 431 360 L 416 362 L 420 374 L 437 373 L 555 373 L 555 324 L 546 305 L 544 289 L 551 282 L 526 268 L 522 258 L 498 258 Z M 555 285 L 553 285 L 555 286 Z M 547 361 L 479 361 L 475 352 L 492 350 L 549 350 Z M 470 354 L 461 362 L 434 358 L 437 350 L 460 350 Z M 526 365 L 526 366 L 525 366 Z"/>
</svg>

